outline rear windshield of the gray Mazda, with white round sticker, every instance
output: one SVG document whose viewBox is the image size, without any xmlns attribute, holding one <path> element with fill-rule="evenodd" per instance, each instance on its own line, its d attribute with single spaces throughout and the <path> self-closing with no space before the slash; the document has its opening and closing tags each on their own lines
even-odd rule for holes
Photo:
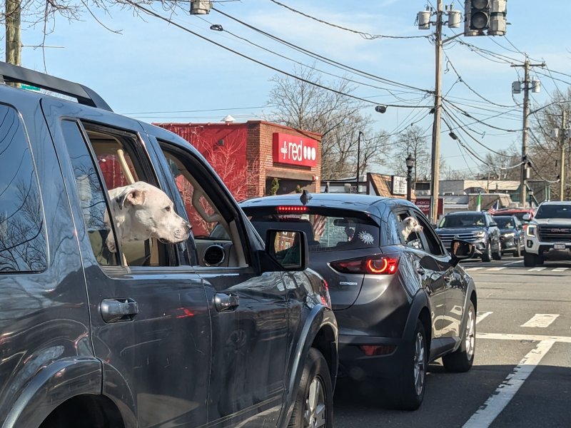
<svg viewBox="0 0 571 428">
<path fill-rule="evenodd" d="M 295 210 L 303 209 L 303 213 Z M 287 207 L 243 208 L 262 238 L 271 228 L 305 232 L 309 251 L 335 251 L 378 247 L 380 229 L 368 216 L 331 208 Z M 278 212 L 279 211 L 279 212 Z"/>
</svg>

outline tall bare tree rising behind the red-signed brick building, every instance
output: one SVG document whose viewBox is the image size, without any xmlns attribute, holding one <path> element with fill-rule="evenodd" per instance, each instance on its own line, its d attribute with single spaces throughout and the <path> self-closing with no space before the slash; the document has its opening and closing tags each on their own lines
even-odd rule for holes
<svg viewBox="0 0 571 428">
<path fill-rule="evenodd" d="M 360 171 L 364 172 L 365 168 L 375 163 L 382 163 L 385 134 L 373 132 L 373 119 L 360 113 L 362 103 L 343 95 L 354 90 L 348 81 L 322 83 L 314 68 L 295 67 L 293 73 L 303 80 L 283 76 L 271 79 L 274 86 L 268 104 L 273 112 L 268 119 L 322 135 L 323 180 L 356 176 L 359 131 L 363 133 L 359 150 Z"/>
</svg>

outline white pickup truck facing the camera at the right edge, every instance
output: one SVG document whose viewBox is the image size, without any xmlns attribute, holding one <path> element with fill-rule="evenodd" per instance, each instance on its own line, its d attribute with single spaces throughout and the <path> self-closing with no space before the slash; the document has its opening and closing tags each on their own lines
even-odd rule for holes
<svg viewBox="0 0 571 428">
<path fill-rule="evenodd" d="M 571 201 L 541 203 L 527 225 L 523 264 L 534 267 L 544 260 L 571 260 Z"/>
</svg>

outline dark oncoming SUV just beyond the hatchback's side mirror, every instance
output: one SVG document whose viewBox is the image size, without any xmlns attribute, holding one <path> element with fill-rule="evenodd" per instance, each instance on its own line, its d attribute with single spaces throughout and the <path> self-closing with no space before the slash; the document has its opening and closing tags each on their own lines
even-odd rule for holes
<svg viewBox="0 0 571 428">
<path fill-rule="evenodd" d="M 448 213 L 438 222 L 436 233 L 446 248 L 450 248 L 450 243 L 456 238 L 473 243 L 483 262 L 502 258 L 500 229 L 485 211 Z"/>
</svg>

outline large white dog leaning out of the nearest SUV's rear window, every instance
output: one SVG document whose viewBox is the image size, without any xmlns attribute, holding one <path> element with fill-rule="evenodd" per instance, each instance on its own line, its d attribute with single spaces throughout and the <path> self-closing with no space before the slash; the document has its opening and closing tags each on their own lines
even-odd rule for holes
<svg viewBox="0 0 571 428">
<path fill-rule="evenodd" d="M 137 181 L 131 185 L 109 190 L 111 213 L 117 238 L 121 243 L 156 238 L 161 243 L 175 244 L 188 239 L 192 226 L 177 215 L 173 202 L 163 190 Z M 109 224 L 108 218 L 105 219 Z M 116 252 L 113 233 L 106 245 Z"/>
</svg>

